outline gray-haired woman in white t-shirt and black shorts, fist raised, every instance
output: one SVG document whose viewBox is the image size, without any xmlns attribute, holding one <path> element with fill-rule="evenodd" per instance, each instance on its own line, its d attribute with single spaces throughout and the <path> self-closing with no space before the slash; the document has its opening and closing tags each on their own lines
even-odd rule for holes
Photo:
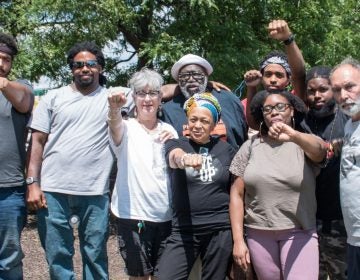
<svg viewBox="0 0 360 280">
<path fill-rule="evenodd" d="M 164 143 L 176 131 L 158 119 L 162 77 L 142 69 L 129 81 L 136 117 L 123 120 L 124 93 L 110 93 L 110 144 L 118 172 L 111 199 L 120 254 L 129 279 L 157 276 L 159 257 L 171 229 L 169 180 Z"/>
</svg>

